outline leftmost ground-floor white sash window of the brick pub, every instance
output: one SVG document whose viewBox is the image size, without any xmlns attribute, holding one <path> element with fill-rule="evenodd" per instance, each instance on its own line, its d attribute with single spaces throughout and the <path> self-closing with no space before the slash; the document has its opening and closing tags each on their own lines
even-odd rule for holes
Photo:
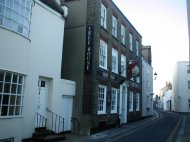
<svg viewBox="0 0 190 142">
<path fill-rule="evenodd" d="M 98 114 L 106 114 L 107 87 L 98 85 Z"/>
</svg>

